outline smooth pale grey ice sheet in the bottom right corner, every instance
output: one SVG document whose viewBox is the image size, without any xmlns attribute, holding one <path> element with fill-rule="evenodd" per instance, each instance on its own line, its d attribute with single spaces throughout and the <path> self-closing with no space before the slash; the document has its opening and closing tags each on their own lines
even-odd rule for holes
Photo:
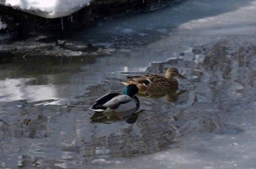
<svg viewBox="0 0 256 169">
<path fill-rule="evenodd" d="M 253 135 L 252 135 L 253 134 Z M 191 138 L 190 136 L 193 135 Z M 190 137 L 190 138 L 189 138 Z M 198 139 L 198 138 L 199 139 Z M 106 164 L 105 169 L 255 169 L 255 132 L 189 134 L 187 144 L 168 151 Z M 190 142 L 188 142 L 190 141 Z M 101 161 L 104 163 L 104 161 Z"/>
</svg>

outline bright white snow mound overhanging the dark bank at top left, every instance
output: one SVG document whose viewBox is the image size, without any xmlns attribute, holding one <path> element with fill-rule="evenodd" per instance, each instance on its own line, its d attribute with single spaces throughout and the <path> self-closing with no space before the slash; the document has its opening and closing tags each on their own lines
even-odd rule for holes
<svg viewBox="0 0 256 169">
<path fill-rule="evenodd" d="M 93 0 L 0 0 L 0 4 L 41 17 L 64 17 L 88 6 Z"/>
</svg>

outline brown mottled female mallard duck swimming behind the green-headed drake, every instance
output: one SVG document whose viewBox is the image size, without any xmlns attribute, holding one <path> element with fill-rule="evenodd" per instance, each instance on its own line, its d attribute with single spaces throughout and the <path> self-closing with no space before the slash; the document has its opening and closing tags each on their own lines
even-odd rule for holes
<svg viewBox="0 0 256 169">
<path fill-rule="evenodd" d="M 174 78 L 185 78 L 182 76 L 178 69 L 168 68 L 165 72 L 165 76 L 160 76 L 156 74 L 144 75 L 131 77 L 127 82 L 122 82 L 124 85 L 135 84 L 139 90 L 178 90 L 179 83 Z"/>
</svg>

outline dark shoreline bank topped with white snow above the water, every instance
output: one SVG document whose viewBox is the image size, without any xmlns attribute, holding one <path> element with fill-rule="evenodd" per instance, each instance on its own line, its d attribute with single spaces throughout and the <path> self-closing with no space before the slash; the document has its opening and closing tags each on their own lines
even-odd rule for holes
<svg viewBox="0 0 256 169">
<path fill-rule="evenodd" d="M 79 31 L 112 17 L 153 11 L 180 0 L 150 0 L 144 2 L 142 0 L 86 0 L 87 3 L 80 4 L 81 0 L 75 0 L 68 5 L 63 4 L 63 1 L 59 3 L 57 0 L 49 4 L 37 4 L 35 3 L 36 0 L 30 0 L 34 3 L 29 4 L 21 4 L 20 1 L 9 1 L 13 4 L 6 4 L 7 1 L 0 0 L 0 17 L 2 17 L 2 22 L 8 25 L 6 31 L 26 36 L 30 33 L 49 33 L 53 31 L 61 33 L 59 30 Z M 30 1 L 24 0 L 22 2 Z"/>
</svg>

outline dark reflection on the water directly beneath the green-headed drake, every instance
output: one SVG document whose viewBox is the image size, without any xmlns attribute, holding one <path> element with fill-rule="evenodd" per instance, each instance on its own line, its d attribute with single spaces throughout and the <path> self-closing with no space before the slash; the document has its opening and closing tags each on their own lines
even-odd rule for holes
<svg viewBox="0 0 256 169">
<path fill-rule="evenodd" d="M 90 117 L 91 122 L 99 122 L 110 124 L 117 121 L 126 121 L 128 124 L 134 124 L 137 120 L 139 115 L 144 112 L 145 110 L 140 110 L 138 112 L 126 112 L 122 114 L 112 114 L 111 117 L 105 116 L 103 113 L 95 112 L 92 117 Z"/>
</svg>

